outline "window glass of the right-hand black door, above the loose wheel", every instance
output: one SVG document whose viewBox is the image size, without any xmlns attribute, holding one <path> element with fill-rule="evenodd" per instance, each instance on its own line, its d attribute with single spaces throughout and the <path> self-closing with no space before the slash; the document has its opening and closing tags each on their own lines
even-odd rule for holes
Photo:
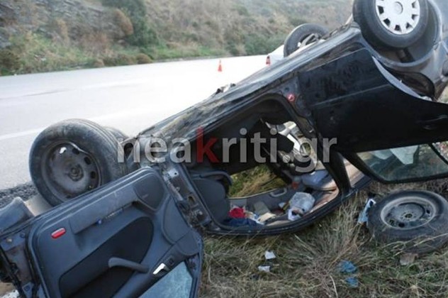
<svg viewBox="0 0 448 298">
<path fill-rule="evenodd" d="M 359 153 L 383 180 L 420 179 L 448 173 L 448 142 Z"/>
</svg>

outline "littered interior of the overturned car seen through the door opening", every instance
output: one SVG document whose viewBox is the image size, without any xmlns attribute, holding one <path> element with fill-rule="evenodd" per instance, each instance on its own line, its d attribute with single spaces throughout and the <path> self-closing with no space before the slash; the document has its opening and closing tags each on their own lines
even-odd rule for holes
<svg viewBox="0 0 448 298">
<path fill-rule="evenodd" d="M 258 158 L 254 156 L 257 148 L 251 147 L 254 146 L 251 140 L 256 136 L 264 141 Z M 236 139 L 235 144 L 228 148 L 228 153 L 223 153 L 223 143 L 232 138 Z M 288 226 L 339 197 L 337 184 L 323 162 L 318 160 L 315 146 L 303 136 L 288 107 L 281 101 L 264 100 L 250 111 L 230 119 L 228 124 L 207 133 L 204 139 L 204 143 L 216 140 L 211 148 L 213 154 L 218 160 L 227 155 L 229 162 L 211 162 L 206 156 L 203 162 L 186 163 L 186 168 L 209 213 L 223 228 Z M 273 143 L 276 146 L 273 147 Z M 193 148 L 195 150 L 197 148 Z M 345 165 L 352 184 L 364 177 L 349 162 Z M 230 195 L 233 179 L 259 166 L 269 169 L 271 175 L 281 181 L 281 187 L 245 197 Z M 310 194 L 310 204 L 306 209 L 294 212 L 291 199 L 297 193 Z"/>
</svg>

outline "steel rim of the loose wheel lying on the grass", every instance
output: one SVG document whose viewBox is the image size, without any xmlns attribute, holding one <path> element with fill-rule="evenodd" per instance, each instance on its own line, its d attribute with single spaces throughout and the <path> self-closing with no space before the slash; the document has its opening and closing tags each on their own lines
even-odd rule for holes
<svg viewBox="0 0 448 298">
<path fill-rule="evenodd" d="M 437 214 L 437 206 L 420 197 L 395 199 L 384 206 L 381 221 L 391 228 L 410 230 L 424 226 Z"/>
</svg>

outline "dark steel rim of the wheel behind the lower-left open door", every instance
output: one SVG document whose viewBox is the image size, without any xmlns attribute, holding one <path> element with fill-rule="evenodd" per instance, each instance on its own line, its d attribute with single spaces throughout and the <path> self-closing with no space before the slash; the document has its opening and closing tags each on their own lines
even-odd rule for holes
<svg viewBox="0 0 448 298">
<path fill-rule="evenodd" d="M 101 185 L 98 162 L 72 142 L 52 145 L 43 156 L 42 168 L 45 183 L 62 201 Z"/>
</svg>

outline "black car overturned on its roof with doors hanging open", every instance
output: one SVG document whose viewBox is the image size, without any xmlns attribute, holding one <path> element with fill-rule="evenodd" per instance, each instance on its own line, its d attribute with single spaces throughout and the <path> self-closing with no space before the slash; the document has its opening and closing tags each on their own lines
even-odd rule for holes
<svg viewBox="0 0 448 298">
<path fill-rule="evenodd" d="M 371 179 L 447 177 L 448 4 L 357 0 L 353 18 L 304 47 L 291 34 L 284 60 L 135 138 L 47 128 L 30 172 L 55 208 L 1 209 L 1 279 L 23 297 L 195 297 L 196 230 L 299 231 Z M 232 176 L 260 164 L 286 186 L 231 197 Z"/>
</svg>

